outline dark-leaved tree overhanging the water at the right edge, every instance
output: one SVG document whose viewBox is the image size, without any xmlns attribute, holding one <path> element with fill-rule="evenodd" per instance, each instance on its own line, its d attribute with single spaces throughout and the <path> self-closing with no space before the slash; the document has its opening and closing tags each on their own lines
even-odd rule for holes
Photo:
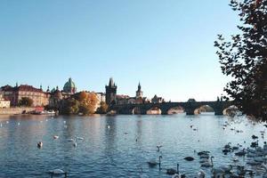
<svg viewBox="0 0 267 178">
<path fill-rule="evenodd" d="M 231 0 L 230 6 L 239 12 L 241 34 L 214 42 L 223 74 L 232 78 L 224 91 L 244 113 L 267 120 L 267 0 Z"/>
</svg>

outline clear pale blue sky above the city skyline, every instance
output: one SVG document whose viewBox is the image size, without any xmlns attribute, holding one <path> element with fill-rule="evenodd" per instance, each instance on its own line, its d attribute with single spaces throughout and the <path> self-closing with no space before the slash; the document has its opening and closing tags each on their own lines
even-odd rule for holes
<svg viewBox="0 0 267 178">
<path fill-rule="evenodd" d="M 60 88 L 166 100 L 215 100 L 223 76 L 216 35 L 237 32 L 229 1 L 1 0 L 0 85 Z"/>
</svg>

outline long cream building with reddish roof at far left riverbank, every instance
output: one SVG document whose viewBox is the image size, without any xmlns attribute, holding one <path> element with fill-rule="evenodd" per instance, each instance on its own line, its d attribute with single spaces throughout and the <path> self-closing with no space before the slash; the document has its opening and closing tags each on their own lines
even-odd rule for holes
<svg viewBox="0 0 267 178">
<path fill-rule="evenodd" d="M 32 85 L 5 85 L 1 87 L 0 94 L 4 100 L 11 102 L 11 106 L 18 106 L 21 98 L 25 97 L 33 101 L 33 107 L 45 106 L 49 101 L 49 95 L 43 92 L 42 87 L 36 88 Z"/>
</svg>

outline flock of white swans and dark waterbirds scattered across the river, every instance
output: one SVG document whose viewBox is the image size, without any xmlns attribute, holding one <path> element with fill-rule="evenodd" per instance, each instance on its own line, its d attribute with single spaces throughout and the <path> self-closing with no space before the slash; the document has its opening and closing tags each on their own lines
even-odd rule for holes
<svg viewBox="0 0 267 178">
<path fill-rule="evenodd" d="M 46 119 L 46 121 L 48 121 Z M 43 121 L 40 121 L 43 122 Z M 67 127 L 66 121 L 64 122 L 64 127 Z M 9 124 L 9 121 L 6 121 L 5 124 Z M 20 125 L 20 122 L 17 123 Z M 0 127 L 3 124 L 0 123 Z M 229 130 L 235 133 L 243 133 L 242 130 L 238 130 L 235 127 L 231 127 L 230 122 L 225 122 L 223 125 L 223 130 L 226 130 L 229 127 Z M 267 125 L 264 125 L 267 127 Z M 110 126 L 107 126 L 110 129 Z M 198 132 L 198 128 L 194 125 L 190 125 L 190 129 Z M 128 134 L 128 132 L 125 132 Z M 267 178 L 267 142 L 263 142 L 263 146 L 259 145 L 259 140 L 262 139 L 264 141 L 265 129 L 258 133 L 260 136 L 253 134 L 251 136 L 252 142 L 250 146 L 245 148 L 242 144 L 246 144 L 243 142 L 242 144 L 232 144 L 228 142 L 222 147 L 222 154 L 229 156 L 232 164 L 226 166 L 214 166 L 214 156 L 208 150 L 196 151 L 194 150 L 194 156 L 185 157 L 185 161 L 196 161 L 198 158 L 199 162 L 199 171 L 194 176 L 194 178 L 205 178 L 211 175 L 214 178 L 242 178 L 242 177 L 254 177 L 255 175 L 259 175 L 260 177 Z M 53 139 L 59 139 L 59 135 L 53 135 Z M 83 141 L 83 137 L 76 136 L 75 138 L 69 138 L 66 142 L 72 142 L 73 147 L 77 147 L 77 141 Z M 137 142 L 137 139 L 136 139 Z M 199 142 L 199 140 L 198 140 Z M 37 148 L 41 149 L 44 146 L 43 142 L 37 142 Z M 157 151 L 159 152 L 163 145 L 157 145 Z M 198 155 L 198 156 L 197 156 Z M 186 174 L 182 174 L 179 170 L 180 164 L 176 165 L 176 168 L 163 168 L 162 167 L 162 159 L 163 157 L 160 155 L 158 160 L 156 158 L 150 159 L 147 161 L 148 166 L 157 167 L 160 171 L 166 171 L 166 174 L 171 175 L 172 178 L 183 178 L 187 177 Z M 239 163 L 242 162 L 242 165 Z M 210 173 L 206 174 L 207 171 Z M 67 172 L 64 172 L 61 169 L 53 169 L 49 171 L 50 174 L 65 174 L 67 176 Z M 142 172 L 143 173 L 143 172 Z M 140 174 L 140 177 L 146 177 L 146 174 Z M 190 176 L 191 177 L 191 176 Z"/>
</svg>

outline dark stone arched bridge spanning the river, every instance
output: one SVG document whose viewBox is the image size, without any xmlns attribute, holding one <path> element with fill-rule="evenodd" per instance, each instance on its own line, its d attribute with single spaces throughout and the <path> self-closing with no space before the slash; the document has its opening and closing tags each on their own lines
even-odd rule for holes
<svg viewBox="0 0 267 178">
<path fill-rule="evenodd" d="M 188 102 L 161 102 L 144 104 L 123 104 L 114 105 L 110 109 L 117 114 L 147 114 L 148 110 L 160 109 L 162 115 L 167 115 L 170 109 L 182 108 L 187 115 L 194 115 L 195 110 L 202 106 L 209 106 L 214 109 L 215 115 L 223 115 L 223 110 L 232 105 L 232 101 L 188 101 Z"/>
</svg>

